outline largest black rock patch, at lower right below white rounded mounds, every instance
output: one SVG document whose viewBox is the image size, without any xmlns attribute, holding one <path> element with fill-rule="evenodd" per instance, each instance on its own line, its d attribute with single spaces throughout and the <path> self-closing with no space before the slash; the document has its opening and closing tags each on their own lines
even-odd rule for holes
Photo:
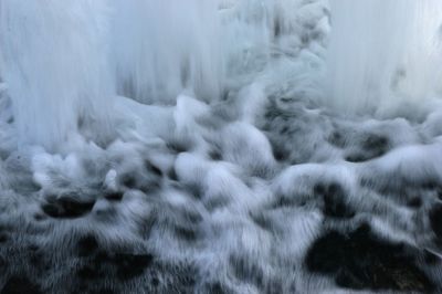
<svg viewBox="0 0 442 294">
<path fill-rule="evenodd" d="M 316 240 L 305 263 L 308 271 L 330 275 L 341 287 L 432 291 L 432 282 L 406 249 L 376 237 L 362 224 L 350 233 L 330 231 Z"/>
</svg>

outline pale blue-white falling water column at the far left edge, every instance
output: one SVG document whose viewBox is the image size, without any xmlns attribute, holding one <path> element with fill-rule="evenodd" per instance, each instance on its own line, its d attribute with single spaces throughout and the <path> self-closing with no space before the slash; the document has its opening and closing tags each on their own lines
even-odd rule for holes
<svg viewBox="0 0 442 294">
<path fill-rule="evenodd" d="M 0 6 L 2 72 L 20 145 L 69 145 L 80 119 L 106 133 L 114 91 L 104 1 Z"/>
</svg>

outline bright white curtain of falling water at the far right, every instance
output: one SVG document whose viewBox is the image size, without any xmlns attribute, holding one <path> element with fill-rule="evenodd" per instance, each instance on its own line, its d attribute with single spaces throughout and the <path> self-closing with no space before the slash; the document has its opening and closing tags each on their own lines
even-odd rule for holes
<svg viewBox="0 0 442 294">
<path fill-rule="evenodd" d="M 329 104 L 373 113 L 431 96 L 441 83 L 441 8 L 431 0 L 332 0 Z"/>
</svg>

